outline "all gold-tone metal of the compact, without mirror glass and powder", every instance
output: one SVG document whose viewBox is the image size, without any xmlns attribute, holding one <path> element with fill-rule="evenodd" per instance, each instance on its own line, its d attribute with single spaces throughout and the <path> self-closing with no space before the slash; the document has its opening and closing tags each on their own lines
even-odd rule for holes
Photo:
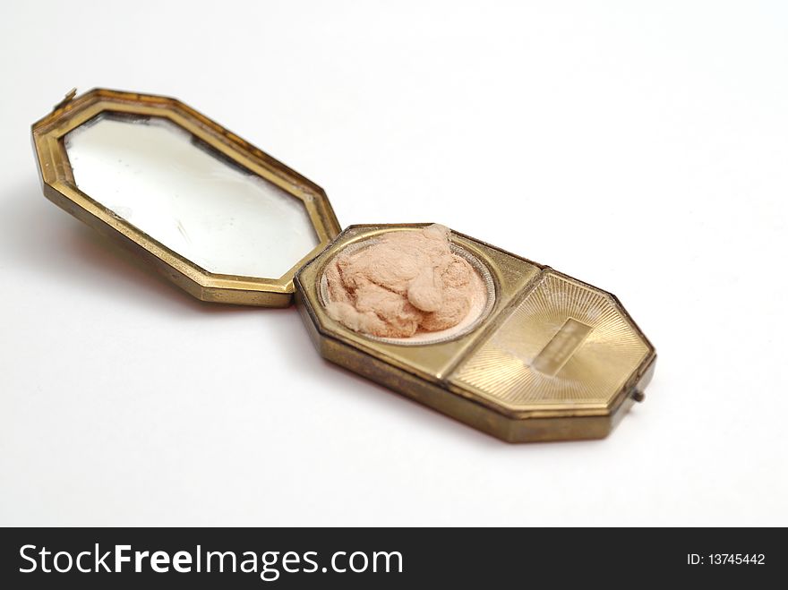
<svg viewBox="0 0 788 590">
<path fill-rule="evenodd" d="M 302 201 L 319 244 L 278 278 L 209 272 L 167 248 L 77 187 L 64 137 L 104 114 L 178 125 L 221 158 Z M 603 438 L 643 398 L 651 379 L 655 349 L 614 295 L 458 233 L 451 240 L 489 273 L 494 294 L 468 331 L 406 344 L 365 337 L 333 321 L 321 299 L 331 258 L 382 233 L 425 224 L 351 226 L 339 234 L 319 186 L 174 98 L 100 89 L 74 98 L 71 92 L 33 124 L 32 138 L 50 201 L 119 240 L 189 294 L 284 307 L 295 291 L 304 323 L 328 360 L 502 440 Z"/>
</svg>

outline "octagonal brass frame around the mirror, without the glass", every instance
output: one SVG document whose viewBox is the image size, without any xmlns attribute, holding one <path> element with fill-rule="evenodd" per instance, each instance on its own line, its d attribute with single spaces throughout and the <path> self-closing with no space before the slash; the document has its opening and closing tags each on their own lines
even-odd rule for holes
<svg viewBox="0 0 788 590">
<path fill-rule="evenodd" d="M 320 186 L 176 98 L 107 89 L 90 90 L 76 98 L 74 95 L 75 91 L 70 92 L 51 113 L 32 125 L 39 177 L 49 201 L 99 233 L 119 240 L 164 278 L 201 301 L 262 307 L 287 307 L 292 303 L 296 270 L 321 252 L 340 231 Z M 103 113 L 162 117 L 192 133 L 238 166 L 303 201 L 320 244 L 279 278 L 212 273 L 170 250 L 81 192 L 74 182 L 64 136 Z"/>
</svg>

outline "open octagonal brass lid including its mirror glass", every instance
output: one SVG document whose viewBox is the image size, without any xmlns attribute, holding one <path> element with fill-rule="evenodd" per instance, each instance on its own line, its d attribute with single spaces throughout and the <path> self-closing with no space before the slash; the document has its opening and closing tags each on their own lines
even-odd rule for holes
<svg viewBox="0 0 788 590">
<path fill-rule="evenodd" d="M 339 233 L 320 186 L 175 98 L 73 94 L 32 126 L 49 200 L 198 299 L 290 304 Z"/>
</svg>

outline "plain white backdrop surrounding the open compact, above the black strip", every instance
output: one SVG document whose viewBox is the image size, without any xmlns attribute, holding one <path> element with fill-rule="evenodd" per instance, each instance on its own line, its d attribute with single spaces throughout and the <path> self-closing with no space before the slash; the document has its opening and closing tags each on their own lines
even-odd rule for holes
<svg viewBox="0 0 788 590">
<path fill-rule="evenodd" d="M 784 3 L 4 2 L 0 73 L 0 523 L 788 525 Z M 73 86 L 612 291 L 646 402 L 507 445 L 149 276 L 41 195 Z"/>
</svg>

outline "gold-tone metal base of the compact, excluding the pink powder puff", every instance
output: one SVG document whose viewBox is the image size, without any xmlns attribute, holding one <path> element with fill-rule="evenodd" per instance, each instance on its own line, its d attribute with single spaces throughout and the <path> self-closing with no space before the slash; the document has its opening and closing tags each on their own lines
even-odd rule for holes
<svg viewBox="0 0 788 590">
<path fill-rule="evenodd" d="M 599 439 L 642 398 L 655 349 L 618 299 L 467 235 L 492 275 L 492 311 L 471 332 L 403 346 L 331 320 L 319 283 L 350 244 L 420 225 L 351 226 L 295 276 L 296 302 L 328 360 L 510 442 Z"/>
</svg>

